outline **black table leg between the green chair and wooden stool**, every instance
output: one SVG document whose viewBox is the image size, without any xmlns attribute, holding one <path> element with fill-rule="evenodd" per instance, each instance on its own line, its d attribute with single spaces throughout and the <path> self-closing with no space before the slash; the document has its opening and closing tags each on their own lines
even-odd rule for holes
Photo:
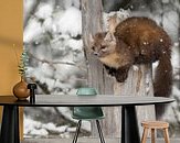
<svg viewBox="0 0 180 143">
<path fill-rule="evenodd" d="M 123 106 L 121 143 L 140 143 L 135 106 Z"/>
</svg>

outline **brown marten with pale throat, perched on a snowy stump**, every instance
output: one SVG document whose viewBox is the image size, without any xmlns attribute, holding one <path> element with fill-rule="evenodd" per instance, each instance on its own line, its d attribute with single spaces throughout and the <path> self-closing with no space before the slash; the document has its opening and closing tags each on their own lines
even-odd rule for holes
<svg viewBox="0 0 180 143">
<path fill-rule="evenodd" d="M 172 85 L 171 40 L 162 28 L 149 18 L 133 16 L 117 24 L 115 32 L 97 33 L 93 53 L 105 65 L 108 74 L 124 82 L 134 64 L 159 61 L 153 90 L 156 97 L 169 97 Z M 157 116 L 162 108 L 156 107 Z"/>
</svg>

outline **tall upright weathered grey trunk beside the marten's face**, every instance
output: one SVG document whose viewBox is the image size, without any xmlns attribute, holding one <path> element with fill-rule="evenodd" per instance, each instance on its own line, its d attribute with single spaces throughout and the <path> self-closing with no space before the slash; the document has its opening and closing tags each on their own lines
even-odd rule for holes
<svg viewBox="0 0 180 143">
<path fill-rule="evenodd" d="M 97 61 L 96 57 L 89 53 L 91 35 L 94 35 L 96 32 L 103 31 L 102 1 L 82 0 L 82 18 L 83 41 L 88 70 L 88 86 L 96 88 L 99 94 L 113 94 L 113 81 L 109 77 L 106 76 L 106 72 L 102 63 L 99 63 L 99 61 Z M 114 117 L 115 114 L 112 114 L 112 108 L 105 108 L 107 121 L 106 127 L 103 125 L 105 134 L 110 134 L 110 130 L 113 130 L 112 117 Z M 114 129 L 116 127 L 114 125 Z M 92 125 L 92 133 L 93 135 L 97 134 L 97 129 L 95 124 Z"/>
</svg>

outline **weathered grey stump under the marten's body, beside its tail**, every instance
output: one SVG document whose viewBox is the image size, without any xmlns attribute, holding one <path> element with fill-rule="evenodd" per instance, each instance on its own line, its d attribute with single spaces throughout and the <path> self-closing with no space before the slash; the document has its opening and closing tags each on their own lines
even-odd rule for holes
<svg viewBox="0 0 180 143">
<path fill-rule="evenodd" d="M 119 96 L 153 96 L 152 87 L 152 70 L 151 65 L 133 66 L 128 73 L 128 78 L 125 82 L 115 84 L 115 95 Z M 155 120 L 155 106 L 139 106 L 137 109 L 138 124 L 142 120 Z M 141 130 L 140 129 L 140 134 Z"/>
</svg>

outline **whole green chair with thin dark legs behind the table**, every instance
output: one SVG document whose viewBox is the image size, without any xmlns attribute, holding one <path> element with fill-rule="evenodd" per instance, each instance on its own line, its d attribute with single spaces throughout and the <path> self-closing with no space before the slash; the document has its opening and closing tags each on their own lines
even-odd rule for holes
<svg viewBox="0 0 180 143">
<path fill-rule="evenodd" d="M 97 91 L 94 88 L 78 88 L 77 96 L 96 96 Z M 73 119 L 77 119 L 76 133 L 73 139 L 73 143 L 77 142 L 80 129 L 82 125 L 82 120 L 96 120 L 97 130 L 100 139 L 100 143 L 105 143 L 99 120 L 104 119 L 104 113 L 100 107 L 74 107 L 73 108 Z"/>
</svg>

